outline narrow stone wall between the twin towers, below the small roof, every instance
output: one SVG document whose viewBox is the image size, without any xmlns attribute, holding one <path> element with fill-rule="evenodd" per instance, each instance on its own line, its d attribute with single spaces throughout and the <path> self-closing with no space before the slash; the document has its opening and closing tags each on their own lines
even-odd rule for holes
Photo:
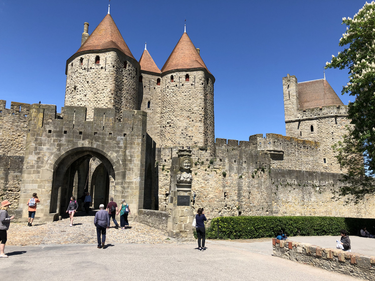
<svg viewBox="0 0 375 281">
<path fill-rule="evenodd" d="M 157 84 L 160 75 L 141 71 L 142 82 L 138 87 L 138 110 L 147 112 L 147 133 L 151 136 L 157 146 L 160 146 L 160 93 L 161 82 Z M 150 108 L 148 108 L 150 102 Z"/>
</svg>

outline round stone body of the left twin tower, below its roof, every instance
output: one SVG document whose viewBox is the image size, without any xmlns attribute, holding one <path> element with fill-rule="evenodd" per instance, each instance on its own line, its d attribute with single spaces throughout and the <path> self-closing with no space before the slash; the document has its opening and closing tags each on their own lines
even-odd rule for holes
<svg viewBox="0 0 375 281">
<path fill-rule="evenodd" d="M 76 54 L 67 63 L 65 105 L 86 106 L 90 121 L 94 108 L 114 108 L 121 121 L 123 109 L 137 109 L 139 70 L 137 61 L 117 50 Z"/>
</svg>

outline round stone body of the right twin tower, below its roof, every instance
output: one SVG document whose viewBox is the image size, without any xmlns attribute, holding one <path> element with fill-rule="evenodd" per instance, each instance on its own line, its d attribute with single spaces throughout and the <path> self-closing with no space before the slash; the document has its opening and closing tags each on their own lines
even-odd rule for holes
<svg viewBox="0 0 375 281">
<path fill-rule="evenodd" d="M 188 82 L 185 81 L 186 74 L 189 75 Z M 160 146 L 214 143 L 213 128 L 210 128 L 210 134 L 207 132 L 208 126 L 213 125 L 213 86 L 207 89 L 206 77 L 208 73 L 204 70 L 163 73 Z M 209 84 L 212 83 L 210 80 Z M 208 93 L 210 97 L 207 97 Z"/>
</svg>

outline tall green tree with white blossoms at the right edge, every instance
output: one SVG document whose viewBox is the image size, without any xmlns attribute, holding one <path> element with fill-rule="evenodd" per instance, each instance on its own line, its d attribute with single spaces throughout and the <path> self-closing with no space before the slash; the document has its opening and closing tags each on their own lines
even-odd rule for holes
<svg viewBox="0 0 375 281">
<path fill-rule="evenodd" d="M 353 18 L 343 18 L 342 24 L 347 30 L 339 46 L 348 48 L 332 55 L 325 68 L 349 70 L 349 82 L 341 93 L 355 97 L 348 104 L 348 118 L 354 126 L 348 127 L 344 140 L 333 149 L 347 169 L 338 195 L 353 195 L 358 203 L 375 195 L 375 1 L 366 2 Z"/>
</svg>

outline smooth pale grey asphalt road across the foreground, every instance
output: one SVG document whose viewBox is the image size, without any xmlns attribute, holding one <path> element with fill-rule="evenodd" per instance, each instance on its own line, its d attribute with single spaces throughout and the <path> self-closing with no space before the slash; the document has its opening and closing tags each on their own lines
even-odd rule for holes
<svg viewBox="0 0 375 281">
<path fill-rule="evenodd" d="M 375 240 L 375 239 L 374 239 Z M 356 278 L 271 256 L 272 242 L 6 246 L 1 280 L 351 281 Z"/>
</svg>

